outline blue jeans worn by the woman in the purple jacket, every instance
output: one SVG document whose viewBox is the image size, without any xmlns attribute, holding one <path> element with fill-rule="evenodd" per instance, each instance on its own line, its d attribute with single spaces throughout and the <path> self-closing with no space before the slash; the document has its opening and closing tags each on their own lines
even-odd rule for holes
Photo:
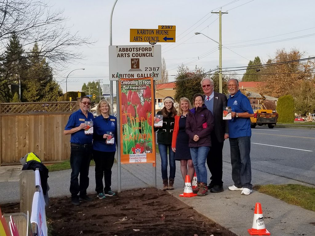
<svg viewBox="0 0 315 236">
<path fill-rule="evenodd" d="M 190 148 L 198 182 L 207 183 L 206 160 L 210 147 Z"/>
</svg>

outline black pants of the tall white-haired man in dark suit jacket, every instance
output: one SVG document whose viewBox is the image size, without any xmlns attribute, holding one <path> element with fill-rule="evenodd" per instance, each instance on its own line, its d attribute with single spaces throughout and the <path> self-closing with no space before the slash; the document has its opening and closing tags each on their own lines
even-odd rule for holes
<svg viewBox="0 0 315 236">
<path fill-rule="evenodd" d="M 222 181 L 222 150 L 223 144 L 218 141 L 215 135 L 211 135 L 211 147 L 207 156 L 207 165 L 211 173 L 211 183 L 214 185 L 223 185 Z"/>
</svg>

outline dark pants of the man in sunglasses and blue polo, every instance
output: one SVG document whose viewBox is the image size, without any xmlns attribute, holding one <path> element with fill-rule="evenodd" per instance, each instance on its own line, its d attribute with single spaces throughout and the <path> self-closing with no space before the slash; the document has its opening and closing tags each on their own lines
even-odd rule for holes
<svg viewBox="0 0 315 236">
<path fill-rule="evenodd" d="M 89 167 L 92 159 L 92 146 L 78 147 L 71 146 L 70 165 L 70 193 L 72 197 L 80 193 L 81 196 L 86 195 L 86 190 L 89 187 Z M 80 183 L 79 183 L 80 174 Z"/>
</svg>

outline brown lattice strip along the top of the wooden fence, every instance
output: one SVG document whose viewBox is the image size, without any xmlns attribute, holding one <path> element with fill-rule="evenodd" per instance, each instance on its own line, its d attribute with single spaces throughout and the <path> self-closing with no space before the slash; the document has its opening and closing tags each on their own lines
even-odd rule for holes
<svg viewBox="0 0 315 236">
<path fill-rule="evenodd" d="M 77 110 L 77 102 L 2 103 L 1 114 L 68 113 Z"/>
</svg>

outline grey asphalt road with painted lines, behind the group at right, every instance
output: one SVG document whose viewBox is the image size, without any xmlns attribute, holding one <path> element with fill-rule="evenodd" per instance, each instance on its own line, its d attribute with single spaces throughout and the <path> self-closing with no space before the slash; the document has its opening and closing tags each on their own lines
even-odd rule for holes
<svg viewBox="0 0 315 236">
<path fill-rule="evenodd" d="M 251 137 L 252 169 L 315 185 L 315 130 L 256 126 Z M 223 161 L 230 161 L 226 140 Z"/>
</svg>

